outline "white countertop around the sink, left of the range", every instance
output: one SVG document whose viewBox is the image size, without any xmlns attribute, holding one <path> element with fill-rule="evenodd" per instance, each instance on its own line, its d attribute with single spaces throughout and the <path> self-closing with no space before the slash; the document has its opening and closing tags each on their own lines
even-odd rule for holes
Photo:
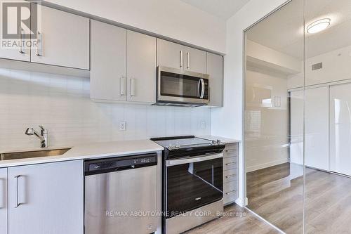
<svg viewBox="0 0 351 234">
<path fill-rule="evenodd" d="M 65 148 L 65 147 L 62 147 Z M 57 148 L 30 149 L 30 150 L 50 150 Z M 32 157 L 20 160 L 0 161 L 1 167 L 15 167 L 28 164 L 39 164 L 48 162 L 60 162 L 69 160 L 86 160 L 100 157 L 119 157 L 123 155 L 138 154 L 143 152 L 157 152 L 164 150 L 160 145 L 150 140 L 137 141 L 112 141 L 104 143 L 90 143 L 74 146 L 65 154 L 60 156 Z M 20 152 L 29 150 L 20 150 Z"/>
</svg>

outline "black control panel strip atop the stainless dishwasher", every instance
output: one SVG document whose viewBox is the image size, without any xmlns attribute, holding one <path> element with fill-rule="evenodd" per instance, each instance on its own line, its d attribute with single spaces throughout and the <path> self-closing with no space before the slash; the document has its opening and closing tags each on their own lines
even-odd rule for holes
<svg viewBox="0 0 351 234">
<path fill-rule="evenodd" d="M 101 174 L 112 171 L 122 171 L 139 167 L 157 165 L 157 154 L 131 155 L 126 157 L 110 157 L 103 160 L 86 160 L 84 174 Z"/>
</svg>

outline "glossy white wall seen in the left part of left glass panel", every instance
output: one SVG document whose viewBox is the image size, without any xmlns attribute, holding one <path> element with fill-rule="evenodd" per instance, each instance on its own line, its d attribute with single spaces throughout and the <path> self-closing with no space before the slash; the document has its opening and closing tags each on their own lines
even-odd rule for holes
<svg viewBox="0 0 351 234">
<path fill-rule="evenodd" d="M 254 87 L 267 87 L 272 90 L 272 106 L 262 107 L 254 97 L 260 90 Z M 245 110 L 245 150 L 246 171 L 288 162 L 289 157 L 289 108 L 286 75 L 258 67 L 246 70 L 246 110 Z M 280 98 L 280 103 L 274 98 Z"/>
</svg>

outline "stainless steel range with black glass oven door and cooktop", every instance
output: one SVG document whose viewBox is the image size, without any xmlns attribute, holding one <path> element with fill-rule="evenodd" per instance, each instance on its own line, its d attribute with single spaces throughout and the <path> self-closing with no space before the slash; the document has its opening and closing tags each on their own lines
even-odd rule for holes
<svg viewBox="0 0 351 234">
<path fill-rule="evenodd" d="M 151 140 L 164 147 L 163 233 L 182 233 L 216 219 L 223 212 L 225 145 L 194 136 Z"/>
</svg>

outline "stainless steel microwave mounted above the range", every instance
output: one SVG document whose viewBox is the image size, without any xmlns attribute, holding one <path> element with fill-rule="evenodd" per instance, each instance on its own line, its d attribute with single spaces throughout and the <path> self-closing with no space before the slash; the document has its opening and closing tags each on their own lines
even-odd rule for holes
<svg viewBox="0 0 351 234">
<path fill-rule="evenodd" d="M 157 67 L 156 105 L 207 105 L 208 74 L 188 72 L 171 67 Z"/>
</svg>

